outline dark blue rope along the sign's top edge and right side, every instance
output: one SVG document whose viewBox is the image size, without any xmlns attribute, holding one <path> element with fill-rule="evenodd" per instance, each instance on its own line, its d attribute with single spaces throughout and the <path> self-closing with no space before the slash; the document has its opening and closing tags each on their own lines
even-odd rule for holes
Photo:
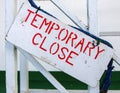
<svg viewBox="0 0 120 93">
<path fill-rule="evenodd" d="M 32 7 L 34 7 L 35 9 L 37 9 L 36 12 L 38 12 L 38 10 L 40 10 L 40 7 L 38 7 L 33 2 L 33 0 L 28 0 L 28 1 L 29 1 L 30 5 Z M 49 14 L 46 11 L 44 11 L 44 10 L 42 10 L 42 11 L 45 12 L 45 13 L 47 13 L 48 15 L 54 17 L 53 15 Z M 56 17 L 54 17 L 54 18 L 56 18 Z M 78 29 L 76 27 L 73 27 L 73 28 Z M 97 44 L 99 44 L 99 42 L 102 42 L 102 43 L 104 43 L 104 44 L 106 44 L 106 45 L 108 45 L 109 47 L 112 48 L 112 45 L 109 42 L 104 41 L 104 40 L 102 40 L 102 39 L 100 39 L 100 38 L 98 38 L 96 36 L 93 36 L 92 34 L 86 32 L 86 31 L 82 30 L 82 32 L 85 33 L 85 34 L 87 34 L 87 35 L 89 35 L 89 36 L 91 36 L 91 37 L 93 37 L 93 38 L 95 38 L 96 40 L 100 40 L 100 41 L 97 41 Z M 111 85 L 112 70 L 114 68 L 114 66 L 112 66 L 112 64 L 113 64 L 113 59 L 111 59 L 111 61 L 109 62 L 108 66 L 107 66 L 107 70 L 105 71 L 105 77 L 104 77 L 104 79 L 102 81 L 102 84 L 100 85 L 100 93 L 107 93 L 107 91 L 108 91 L 108 89 L 109 89 L 109 87 Z"/>
</svg>

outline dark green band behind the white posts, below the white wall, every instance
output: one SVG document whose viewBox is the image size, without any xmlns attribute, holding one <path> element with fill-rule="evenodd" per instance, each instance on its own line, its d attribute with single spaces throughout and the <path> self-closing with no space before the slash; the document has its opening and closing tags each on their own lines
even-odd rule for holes
<svg viewBox="0 0 120 93">
<path fill-rule="evenodd" d="M 87 90 L 87 85 L 76 80 L 75 78 L 63 72 L 51 72 L 51 74 L 66 88 Z M 18 72 L 18 87 L 20 80 Z M 104 75 L 103 75 L 104 77 Z M 103 79 L 102 77 L 102 79 Z M 101 80 L 102 80 L 101 79 Z M 5 71 L 0 71 L 0 93 L 6 93 Z M 53 85 L 39 72 L 29 72 L 29 88 L 30 89 L 55 89 Z M 120 90 L 120 71 L 112 74 L 110 90 Z"/>
</svg>

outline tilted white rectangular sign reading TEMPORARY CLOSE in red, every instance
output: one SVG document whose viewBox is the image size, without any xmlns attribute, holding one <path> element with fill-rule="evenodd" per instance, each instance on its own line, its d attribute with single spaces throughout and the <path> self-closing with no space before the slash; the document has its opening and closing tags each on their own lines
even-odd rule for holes
<svg viewBox="0 0 120 93">
<path fill-rule="evenodd" d="M 24 4 L 6 39 L 72 77 L 96 86 L 113 55 L 101 39 Z M 98 42 L 98 45 L 95 45 Z"/>
</svg>

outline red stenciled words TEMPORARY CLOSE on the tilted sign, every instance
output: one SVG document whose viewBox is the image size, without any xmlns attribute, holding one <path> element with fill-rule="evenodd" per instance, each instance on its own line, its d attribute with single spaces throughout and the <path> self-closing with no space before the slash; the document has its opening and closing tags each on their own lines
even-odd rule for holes
<svg viewBox="0 0 120 93">
<path fill-rule="evenodd" d="M 105 49 L 101 49 L 99 45 L 94 46 L 91 41 L 86 40 L 85 37 L 80 37 L 71 29 L 62 27 L 59 23 L 49 20 L 44 15 L 35 13 L 30 9 L 27 12 L 25 22 L 29 22 L 31 27 L 39 30 L 33 35 L 32 44 L 40 50 L 57 56 L 59 60 L 64 60 L 71 66 L 74 65 L 74 57 L 79 56 L 80 53 L 95 60 L 104 53 Z M 43 32 L 44 34 L 42 34 Z M 46 46 L 50 38 L 48 36 L 54 33 L 56 35 L 54 39 L 56 40 Z M 61 45 L 59 42 L 65 45 Z"/>
</svg>

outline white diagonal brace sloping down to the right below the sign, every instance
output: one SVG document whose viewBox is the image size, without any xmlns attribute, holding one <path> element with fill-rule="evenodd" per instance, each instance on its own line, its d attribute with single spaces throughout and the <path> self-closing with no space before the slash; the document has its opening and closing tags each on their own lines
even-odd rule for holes
<svg viewBox="0 0 120 93">
<path fill-rule="evenodd" d="M 68 91 L 48 71 L 46 71 L 46 69 L 34 57 L 32 57 L 32 55 L 20 48 L 18 48 L 18 50 L 25 55 L 36 69 L 41 72 L 51 82 L 51 84 L 59 90 L 60 93 L 68 93 Z"/>
</svg>

